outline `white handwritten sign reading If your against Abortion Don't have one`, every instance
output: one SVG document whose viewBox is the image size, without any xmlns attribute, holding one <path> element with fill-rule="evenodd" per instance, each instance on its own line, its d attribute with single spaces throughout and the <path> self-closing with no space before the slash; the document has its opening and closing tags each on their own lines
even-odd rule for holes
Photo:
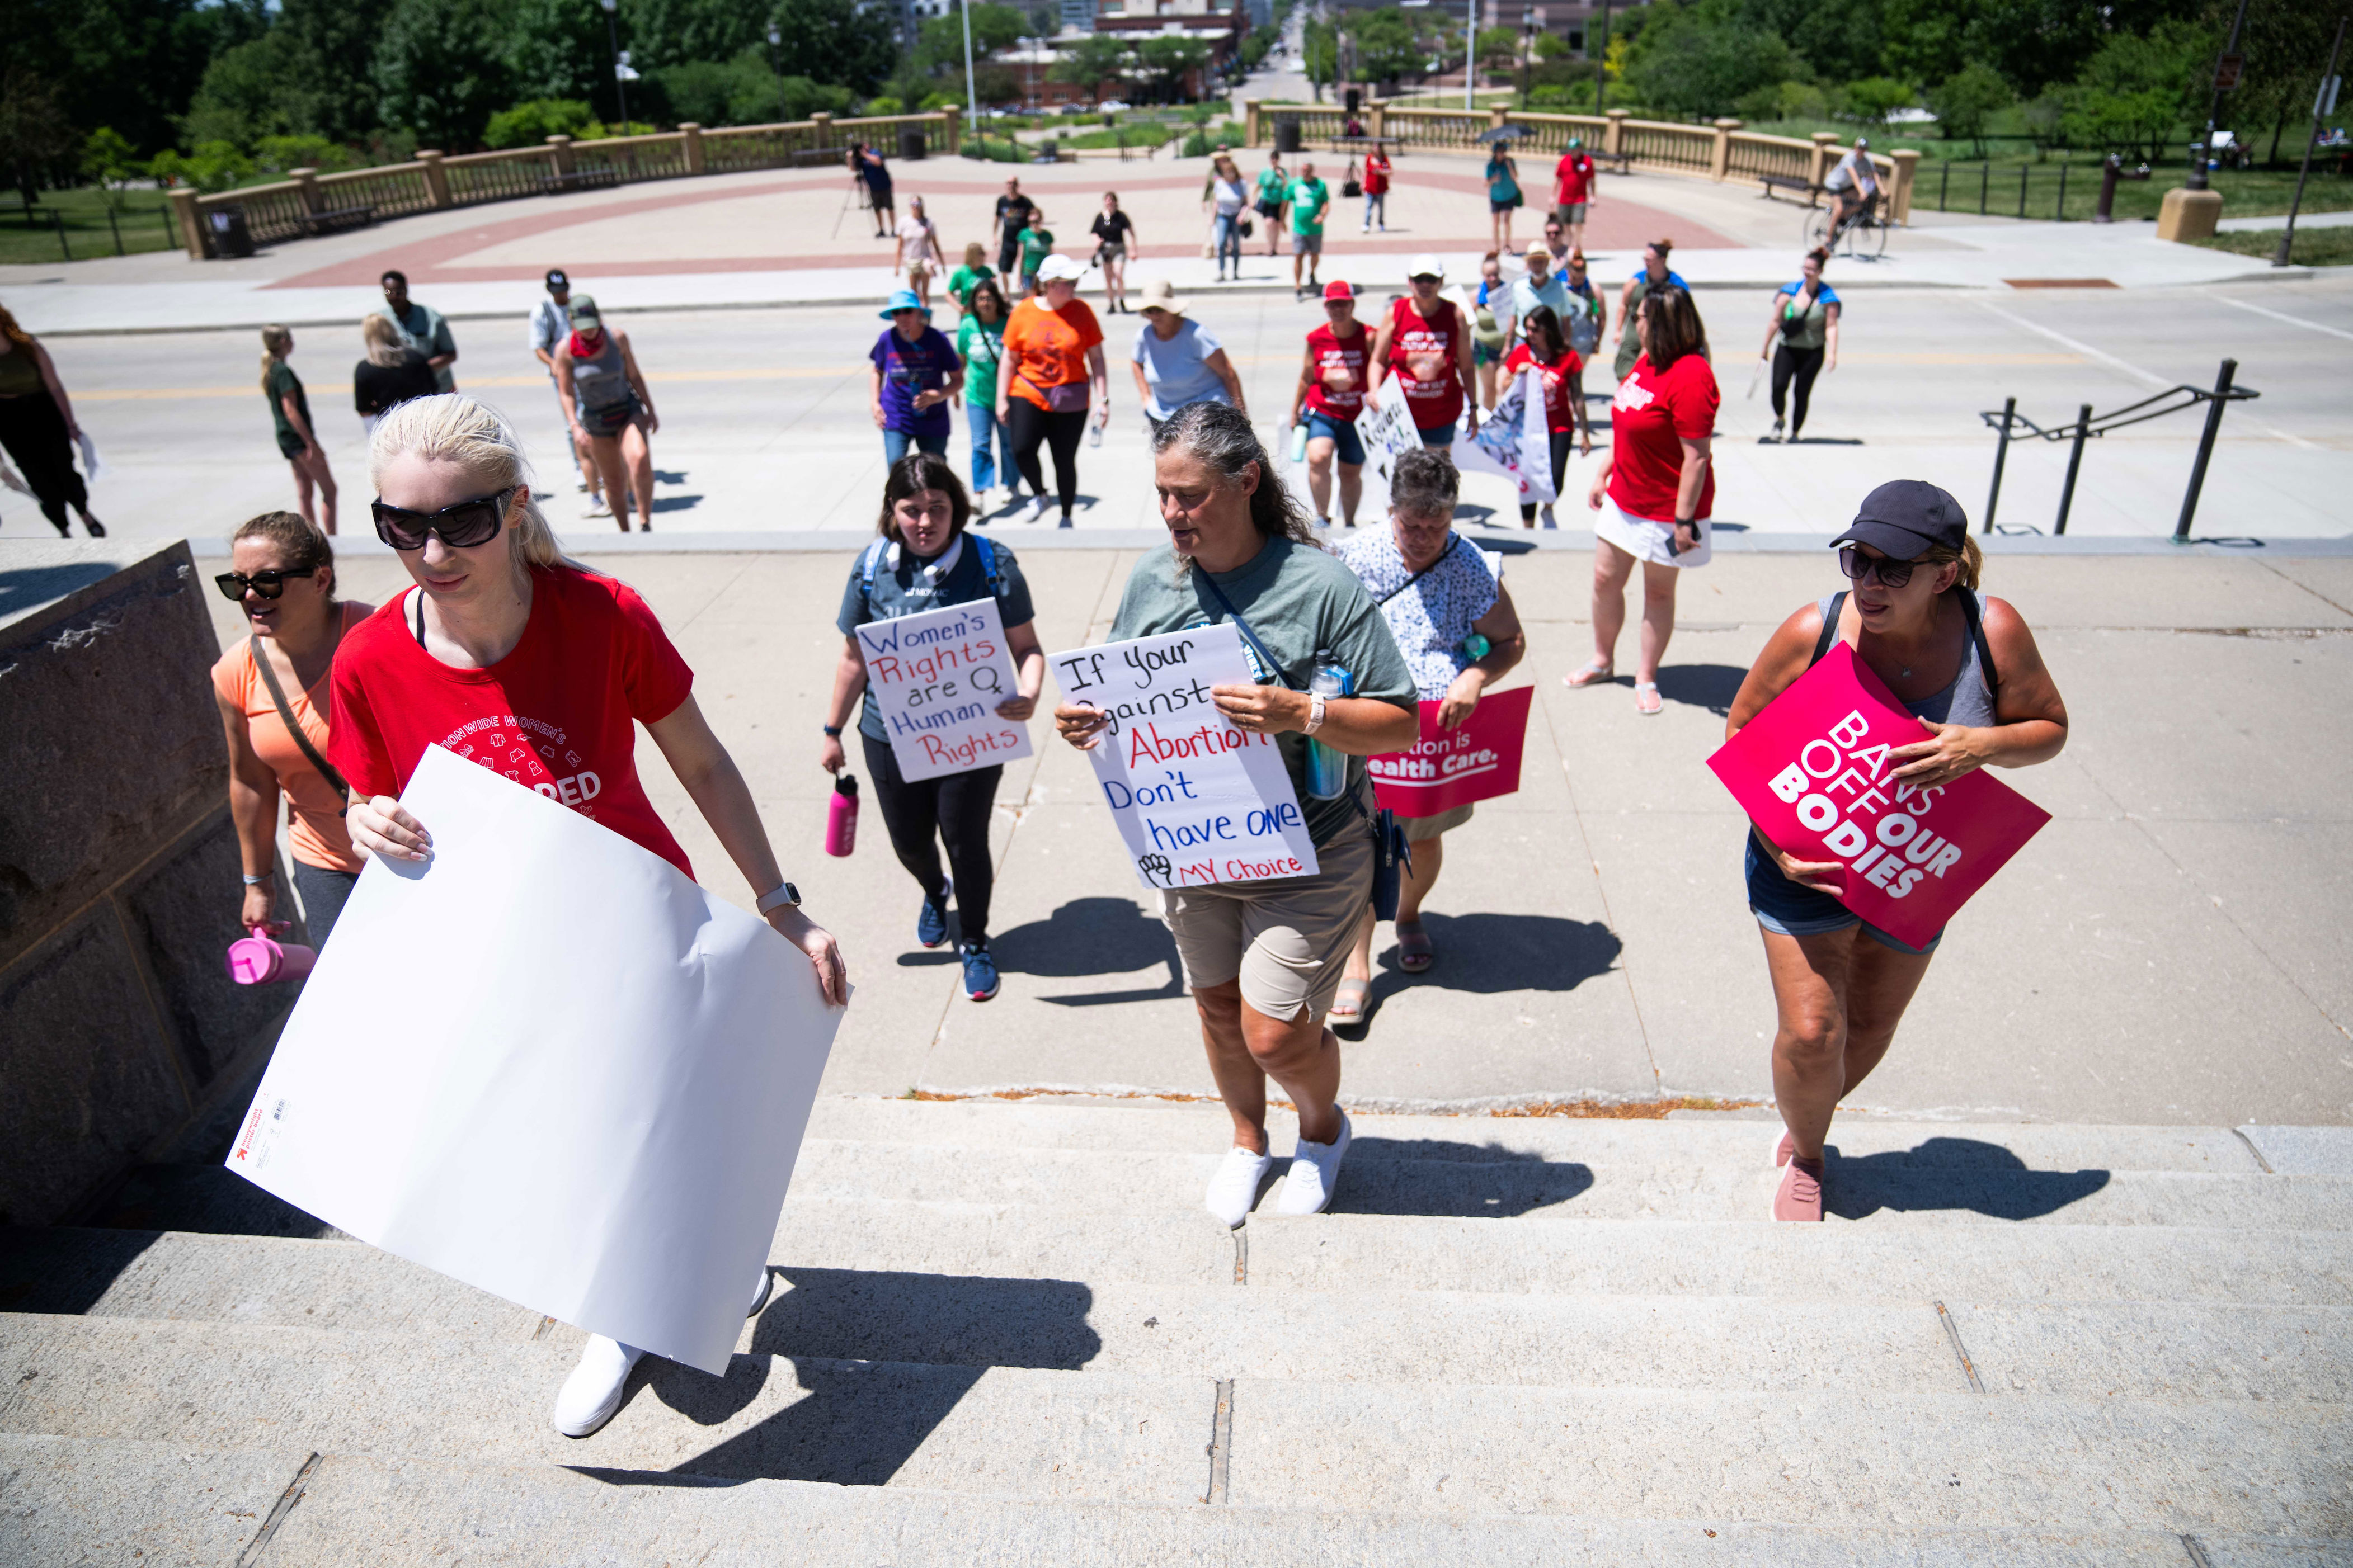
<svg viewBox="0 0 2353 1568">
<path fill-rule="evenodd" d="M 1151 889 L 1315 872 L 1275 738 L 1235 729 L 1212 686 L 1257 677 L 1231 625 L 1108 642 L 1047 658 L 1068 703 L 1111 722 L 1087 759 Z"/>
</svg>

